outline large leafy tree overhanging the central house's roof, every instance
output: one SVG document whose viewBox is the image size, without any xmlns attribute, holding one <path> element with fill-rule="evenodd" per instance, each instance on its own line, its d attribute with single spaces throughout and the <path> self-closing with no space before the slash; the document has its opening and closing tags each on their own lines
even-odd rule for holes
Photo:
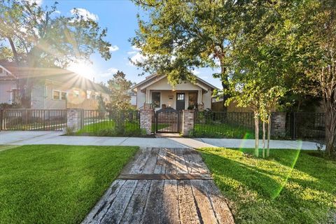
<svg viewBox="0 0 336 224">
<path fill-rule="evenodd" d="M 137 66 L 149 73 L 165 73 L 171 85 L 195 80 L 197 67 L 220 68 L 223 89 L 228 87 L 231 43 L 237 34 L 232 27 L 239 20 L 245 1 L 134 0 L 148 13 L 139 17 L 132 44 L 141 48 L 143 61 Z M 224 97 L 226 99 L 226 96 Z"/>
</svg>

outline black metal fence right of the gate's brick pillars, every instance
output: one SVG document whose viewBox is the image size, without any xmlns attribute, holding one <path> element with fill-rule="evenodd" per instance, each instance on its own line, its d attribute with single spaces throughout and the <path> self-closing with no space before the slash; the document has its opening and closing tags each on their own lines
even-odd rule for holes
<svg viewBox="0 0 336 224">
<path fill-rule="evenodd" d="M 324 113 L 286 113 L 285 128 L 276 139 L 325 139 L 325 114 Z M 260 137 L 261 137 L 260 122 Z M 276 125 L 272 124 L 271 133 Z M 218 138 L 247 138 L 253 139 L 254 114 L 244 112 L 214 112 L 195 111 L 195 125 L 191 133 L 193 137 L 218 137 Z"/>
</svg>

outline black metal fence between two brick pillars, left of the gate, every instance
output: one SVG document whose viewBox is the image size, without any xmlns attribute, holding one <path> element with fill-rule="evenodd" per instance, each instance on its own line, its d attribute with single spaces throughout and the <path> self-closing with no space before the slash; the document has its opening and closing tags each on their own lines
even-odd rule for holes
<svg viewBox="0 0 336 224">
<path fill-rule="evenodd" d="M 139 111 L 83 111 L 83 133 L 102 136 L 137 136 L 141 134 Z"/>
</svg>

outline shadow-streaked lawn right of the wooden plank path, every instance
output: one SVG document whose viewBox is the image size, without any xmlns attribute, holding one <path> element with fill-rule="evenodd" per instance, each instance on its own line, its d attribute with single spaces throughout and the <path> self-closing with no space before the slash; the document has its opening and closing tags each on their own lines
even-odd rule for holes
<svg viewBox="0 0 336 224">
<path fill-rule="evenodd" d="M 237 223 L 335 223 L 335 161 L 309 151 L 271 150 L 267 159 L 246 154 L 253 149 L 200 151 Z"/>
</svg>

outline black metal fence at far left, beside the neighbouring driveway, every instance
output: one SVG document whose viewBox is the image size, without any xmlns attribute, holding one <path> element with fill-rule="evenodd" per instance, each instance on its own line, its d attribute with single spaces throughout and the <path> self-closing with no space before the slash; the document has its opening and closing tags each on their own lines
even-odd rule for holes
<svg viewBox="0 0 336 224">
<path fill-rule="evenodd" d="M 2 109 L 0 130 L 49 131 L 66 127 L 66 110 Z"/>
</svg>

